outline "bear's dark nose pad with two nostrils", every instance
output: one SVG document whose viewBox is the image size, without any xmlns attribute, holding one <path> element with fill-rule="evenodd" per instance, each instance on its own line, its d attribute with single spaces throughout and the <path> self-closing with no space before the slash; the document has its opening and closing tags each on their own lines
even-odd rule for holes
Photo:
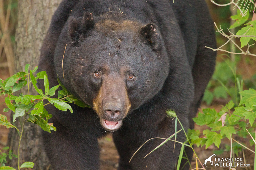
<svg viewBox="0 0 256 170">
<path fill-rule="evenodd" d="M 105 116 L 109 118 L 117 118 L 122 112 L 122 105 L 120 103 L 106 103 L 103 106 Z"/>
</svg>

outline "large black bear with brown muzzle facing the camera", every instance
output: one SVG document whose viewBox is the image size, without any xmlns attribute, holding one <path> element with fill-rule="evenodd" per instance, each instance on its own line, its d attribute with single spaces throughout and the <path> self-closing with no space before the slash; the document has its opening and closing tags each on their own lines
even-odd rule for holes
<svg viewBox="0 0 256 170">
<path fill-rule="evenodd" d="M 143 159 L 163 142 L 150 140 L 129 160 L 146 140 L 174 133 L 166 110 L 174 110 L 185 129 L 194 127 L 191 117 L 215 67 L 216 53 L 205 46 L 215 48 L 216 42 L 204 0 L 63 0 L 39 67 L 51 86 L 58 84 L 58 74 L 91 108 L 72 105 L 71 114 L 48 107 L 57 127 L 43 133 L 52 167 L 98 170 L 97 139 L 110 131 L 119 170 L 174 169 L 181 145 L 174 150 L 172 141 Z M 184 133 L 177 141 L 186 141 Z M 182 166 L 188 169 L 186 160 Z"/>
</svg>

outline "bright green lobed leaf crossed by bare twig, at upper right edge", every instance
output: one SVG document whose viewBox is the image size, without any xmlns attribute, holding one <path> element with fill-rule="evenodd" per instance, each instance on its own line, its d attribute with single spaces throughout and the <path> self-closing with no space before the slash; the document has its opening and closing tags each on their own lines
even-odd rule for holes
<svg viewBox="0 0 256 170">
<path fill-rule="evenodd" d="M 246 26 L 240 29 L 237 32 L 237 35 L 255 35 L 256 36 L 256 28 L 251 27 L 251 26 Z M 241 42 L 241 48 L 250 41 L 250 39 L 253 39 L 256 41 L 256 37 L 241 37 L 240 42 Z"/>
</svg>

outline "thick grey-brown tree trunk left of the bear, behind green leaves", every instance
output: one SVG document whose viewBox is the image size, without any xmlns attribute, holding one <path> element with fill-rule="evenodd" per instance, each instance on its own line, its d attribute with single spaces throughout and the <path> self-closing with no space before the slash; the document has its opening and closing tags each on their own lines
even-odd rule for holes
<svg viewBox="0 0 256 170">
<path fill-rule="evenodd" d="M 39 61 L 42 41 L 50 25 L 51 16 L 61 0 L 22 0 L 18 2 L 18 26 L 16 29 L 15 72 L 24 71 L 25 65 L 34 68 Z M 26 89 L 23 89 L 23 94 Z M 22 120 L 15 123 L 20 128 Z M 8 144 L 14 154 L 18 154 L 19 135 L 14 128 L 10 129 Z M 40 127 L 26 123 L 20 144 L 20 165 L 26 161 L 35 163 L 34 169 L 50 169 L 48 158 L 42 148 Z M 17 167 L 17 159 L 12 159 L 9 166 Z"/>
</svg>

